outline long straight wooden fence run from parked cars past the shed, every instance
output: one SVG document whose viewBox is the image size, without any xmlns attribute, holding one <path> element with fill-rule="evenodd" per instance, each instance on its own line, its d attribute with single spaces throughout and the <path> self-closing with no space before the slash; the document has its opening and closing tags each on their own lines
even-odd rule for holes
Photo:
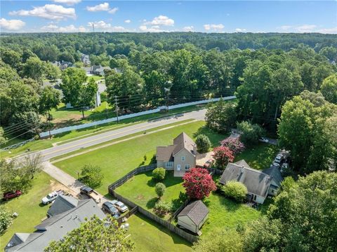
<svg viewBox="0 0 337 252">
<path fill-rule="evenodd" d="M 153 221 L 159 223 L 160 225 L 164 226 L 165 228 L 167 228 L 168 230 L 176 233 L 177 235 L 179 235 L 180 237 L 183 237 L 184 239 L 186 239 L 187 241 L 190 242 L 196 242 L 199 240 L 199 237 L 196 237 L 194 235 L 189 234 L 188 232 L 185 232 L 184 230 L 177 228 L 175 225 L 169 223 L 169 221 L 165 221 L 162 218 L 159 218 L 158 216 L 150 213 L 150 211 L 147 211 L 145 209 L 143 209 L 143 207 L 138 206 L 137 204 L 131 202 L 130 200 L 126 199 L 125 197 L 119 195 L 118 193 L 116 193 L 114 190 L 110 190 L 109 188 L 109 193 L 111 193 L 114 197 L 116 197 L 118 200 L 120 200 L 121 202 L 124 202 L 125 204 L 127 204 L 128 206 L 135 208 L 137 207 L 138 212 L 140 212 L 140 214 L 145 215 L 147 218 L 152 219 Z"/>
</svg>

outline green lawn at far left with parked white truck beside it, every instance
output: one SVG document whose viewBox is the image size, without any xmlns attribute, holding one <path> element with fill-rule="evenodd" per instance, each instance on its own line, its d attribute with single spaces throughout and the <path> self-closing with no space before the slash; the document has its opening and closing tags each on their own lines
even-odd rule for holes
<svg viewBox="0 0 337 252">
<path fill-rule="evenodd" d="M 48 174 L 41 172 L 32 183 L 28 193 L 6 202 L 1 202 L 9 211 L 17 212 L 19 216 L 13 220 L 12 225 L 0 237 L 1 248 L 4 248 L 15 232 L 34 232 L 34 226 L 41 223 L 46 217 L 48 206 L 41 204 L 41 199 L 51 191 L 63 188 Z"/>
</svg>

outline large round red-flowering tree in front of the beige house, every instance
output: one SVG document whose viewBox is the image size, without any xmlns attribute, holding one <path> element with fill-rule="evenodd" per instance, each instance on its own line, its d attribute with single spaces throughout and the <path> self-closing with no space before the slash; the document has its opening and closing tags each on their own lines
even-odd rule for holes
<svg viewBox="0 0 337 252">
<path fill-rule="evenodd" d="M 208 197 L 211 191 L 216 190 L 212 176 L 204 168 L 190 169 L 190 172 L 186 172 L 183 176 L 183 180 L 183 187 L 191 199 L 201 200 L 205 196 Z"/>
</svg>

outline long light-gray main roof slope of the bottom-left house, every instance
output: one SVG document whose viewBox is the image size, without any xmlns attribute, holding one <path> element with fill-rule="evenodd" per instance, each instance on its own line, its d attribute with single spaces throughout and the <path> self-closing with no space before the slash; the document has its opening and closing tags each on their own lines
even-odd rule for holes
<svg viewBox="0 0 337 252">
<path fill-rule="evenodd" d="M 50 241 L 62 239 L 67 235 L 67 232 L 79 228 L 86 218 L 91 218 L 94 215 L 98 218 L 105 218 L 103 211 L 92 199 L 80 200 L 74 209 L 48 218 L 37 225 L 39 228 L 37 232 L 29 234 L 29 236 L 25 234 L 22 239 L 18 238 L 20 234 L 13 235 L 11 241 L 13 240 L 15 243 L 8 243 L 11 246 L 6 246 L 5 251 L 44 251 Z"/>
</svg>

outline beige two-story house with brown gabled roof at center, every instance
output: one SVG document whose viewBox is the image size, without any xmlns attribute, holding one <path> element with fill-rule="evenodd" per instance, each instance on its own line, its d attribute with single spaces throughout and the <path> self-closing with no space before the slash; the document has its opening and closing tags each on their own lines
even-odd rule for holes
<svg viewBox="0 0 337 252">
<path fill-rule="evenodd" d="M 157 146 L 157 167 L 173 170 L 174 176 L 183 176 L 197 161 L 197 145 L 185 132 L 173 139 L 173 145 Z"/>
</svg>

